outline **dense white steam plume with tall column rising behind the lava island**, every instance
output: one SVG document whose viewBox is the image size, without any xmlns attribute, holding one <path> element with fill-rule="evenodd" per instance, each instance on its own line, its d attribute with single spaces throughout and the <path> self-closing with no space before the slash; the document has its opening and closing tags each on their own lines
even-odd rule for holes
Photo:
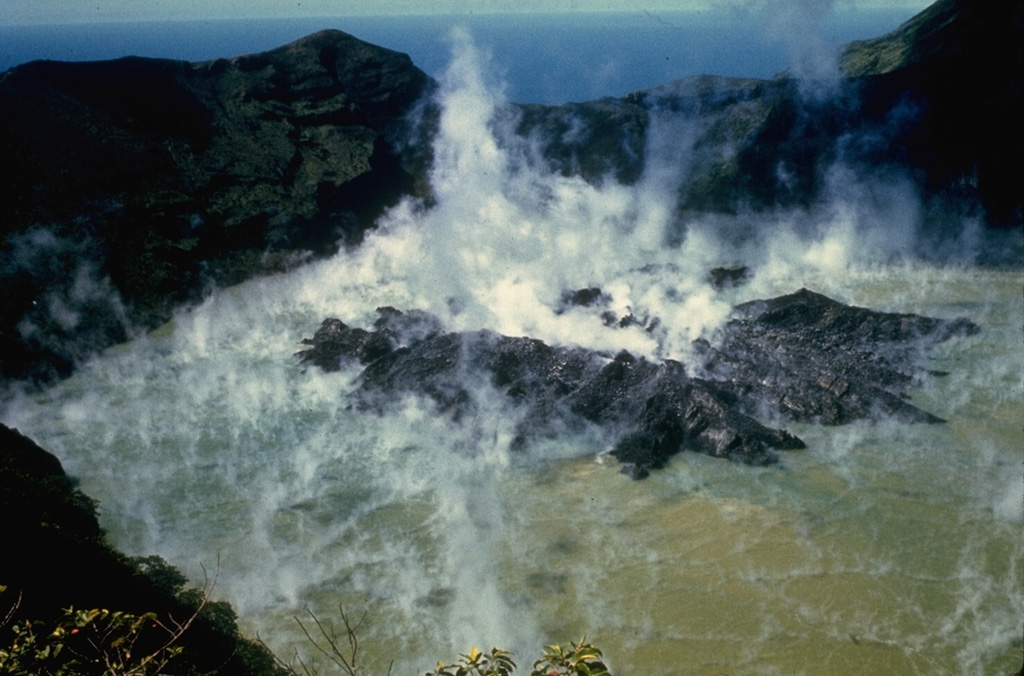
<svg viewBox="0 0 1024 676">
<path fill-rule="evenodd" d="M 635 187 L 609 181 L 597 188 L 553 174 L 538 149 L 514 134 L 513 109 L 487 86 L 468 35 L 457 32 L 455 43 L 441 79 L 431 172 L 436 205 L 424 210 L 407 202 L 394 209 L 353 254 L 358 269 L 403 278 L 415 294 L 403 304 L 434 312 L 454 329 L 487 327 L 653 354 L 673 352 L 672 345 L 717 326 L 728 305 L 713 302 L 701 281 L 716 252 L 696 238 L 689 251 L 665 246 L 672 186 L 685 166 L 686 144 L 679 142 L 685 130 L 654 125 L 657 147 L 669 150 L 652 153 Z M 670 134 L 674 142 L 664 142 Z M 666 273 L 649 271 L 670 264 L 668 274 L 678 278 L 671 301 L 652 289 Z M 674 325 L 679 336 L 659 345 L 642 328 L 608 331 L 596 312 L 556 315 L 563 292 L 591 287 L 609 294 L 610 309 L 620 314 L 683 314 L 685 308 L 685 321 Z"/>
</svg>

